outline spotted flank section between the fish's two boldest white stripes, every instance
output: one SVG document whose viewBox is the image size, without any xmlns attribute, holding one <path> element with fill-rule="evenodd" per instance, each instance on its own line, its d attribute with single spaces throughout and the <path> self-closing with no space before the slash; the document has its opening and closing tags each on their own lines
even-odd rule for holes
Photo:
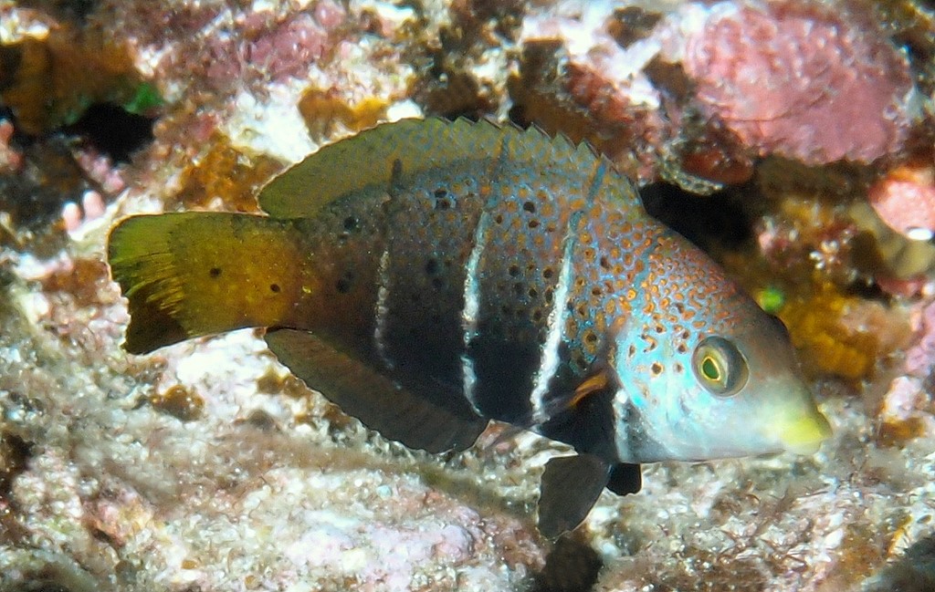
<svg viewBox="0 0 935 592">
<path fill-rule="evenodd" d="M 484 244 L 475 246 L 482 249 L 475 268 L 481 296 L 466 363 L 476 376 L 469 396 L 479 412 L 523 424 L 530 421 L 536 406 L 531 398 L 537 383 L 549 378 L 539 374 L 550 354 L 544 346 L 558 303 L 564 244 L 573 217 L 568 174 L 561 167 L 535 178 L 528 168 L 516 167 L 509 159 L 504 166 L 506 170 L 491 182 Z M 543 208 L 546 203 L 554 207 Z"/>
</svg>

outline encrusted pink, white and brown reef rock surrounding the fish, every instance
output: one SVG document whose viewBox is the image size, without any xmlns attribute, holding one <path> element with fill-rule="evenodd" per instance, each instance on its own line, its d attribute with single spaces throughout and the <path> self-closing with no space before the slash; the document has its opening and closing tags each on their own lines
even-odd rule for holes
<svg viewBox="0 0 935 592">
<path fill-rule="evenodd" d="M 928 590 L 933 23 L 921 0 L 0 0 L 0 589 Z M 289 162 L 429 115 L 663 181 L 650 209 L 784 319 L 833 439 L 647 466 L 556 544 L 553 443 L 411 452 L 252 331 L 122 351 L 115 219 L 255 211 Z"/>
</svg>

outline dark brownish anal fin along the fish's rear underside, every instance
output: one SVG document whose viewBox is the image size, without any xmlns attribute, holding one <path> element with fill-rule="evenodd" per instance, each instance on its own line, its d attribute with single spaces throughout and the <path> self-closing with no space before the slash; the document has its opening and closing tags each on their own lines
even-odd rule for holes
<svg viewBox="0 0 935 592">
<path fill-rule="evenodd" d="M 466 402 L 453 397 L 446 405 L 439 403 L 444 397 L 422 396 L 307 331 L 268 331 L 266 345 L 309 388 L 320 390 L 371 430 L 410 448 L 464 450 L 487 425 Z"/>
</svg>

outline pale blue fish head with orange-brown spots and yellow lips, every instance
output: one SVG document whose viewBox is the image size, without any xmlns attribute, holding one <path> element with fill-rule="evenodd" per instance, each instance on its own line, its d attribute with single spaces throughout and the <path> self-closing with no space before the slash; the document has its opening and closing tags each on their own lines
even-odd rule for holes
<svg viewBox="0 0 935 592">
<path fill-rule="evenodd" d="M 814 452 L 831 430 L 783 324 L 681 236 L 647 250 L 615 359 L 621 459 Z"/>
</svg>

